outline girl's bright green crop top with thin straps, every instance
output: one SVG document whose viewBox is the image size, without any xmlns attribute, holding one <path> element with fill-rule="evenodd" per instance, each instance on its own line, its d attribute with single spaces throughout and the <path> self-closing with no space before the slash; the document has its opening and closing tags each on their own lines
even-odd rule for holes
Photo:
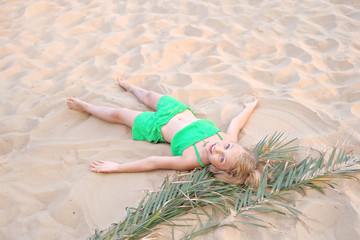
<svg viewBox="0 0 360 240">
<path fill-rule="evenodd" d="M 209 120 L 197 120 L 175 134 L 171 141 L 171 151 L 174 156 L 181 156 L 186 148 L 193 145 L 200 165 L 205 167 L 200 161 L 199 152 L 195 143 L 211 137 L 214 134 L 217 134 L 220 139 L 223 140 L 219 132 L 220 130 L 213 122 L 210 122 Z"/>
</svg>

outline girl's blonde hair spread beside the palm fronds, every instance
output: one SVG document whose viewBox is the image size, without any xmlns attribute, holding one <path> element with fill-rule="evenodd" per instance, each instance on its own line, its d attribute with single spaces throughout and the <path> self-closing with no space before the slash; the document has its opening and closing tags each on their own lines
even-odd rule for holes
<svg viewBox="0 0 360 240">
<path fill-rule="evenodd" d="M 221 170 L 210 165 L 210 172 L 215 175 L 217 180 L 230 184 L 253 185 L 259 186 L 261 178 L 261 166 L 255 157 L 255 154 L 247 148 L 243 148 L 234 165 L 227 170 Z"/>
</svg>

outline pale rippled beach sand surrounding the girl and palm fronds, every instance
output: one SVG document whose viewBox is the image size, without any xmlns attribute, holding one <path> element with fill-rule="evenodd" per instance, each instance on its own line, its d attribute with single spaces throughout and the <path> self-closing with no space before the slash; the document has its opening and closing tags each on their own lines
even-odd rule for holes
<svg viewBox="0 0 360 240">
<path fill-rule="evenodd" d="M 116 76 L 179 98 L 223 130 L 247 98 L 261 98 L 240 134 L 246 146 L 275 131 L 322 151 L 360 141 L 358 1 L 5 0 L 0 31 L 0 239 L 85 239 L 174 173 L 89 171 L 99 158 L 171 154 L 67 108 L 75 96 L 147 110 Z M 360 238 L 357 182 L 295 196 L 301 221 L 269 216 L 274 229 L 207 239 Z"/>
</svg>

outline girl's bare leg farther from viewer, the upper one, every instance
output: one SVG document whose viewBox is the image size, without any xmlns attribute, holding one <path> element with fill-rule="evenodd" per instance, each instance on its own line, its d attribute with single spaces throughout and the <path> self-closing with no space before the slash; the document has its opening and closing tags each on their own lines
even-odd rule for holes
<svg viewBox="0 0 360 240">
<path fill-rule="evenodd" d="M 123 78 L 118 78 L 117 80 L 122 88 L 134 94 L 135 97 L 140 102 L 142 102 L 143 104 L 145 104 L 154 111 L 157 110 L 157 104 L 160 98 L 163 96 L 162 94 L 153 91 L 148 91 L 140 87 L 137 87 L 135 85 L 132 85 L 131 83 L 126 82 Z"/>
</svg>

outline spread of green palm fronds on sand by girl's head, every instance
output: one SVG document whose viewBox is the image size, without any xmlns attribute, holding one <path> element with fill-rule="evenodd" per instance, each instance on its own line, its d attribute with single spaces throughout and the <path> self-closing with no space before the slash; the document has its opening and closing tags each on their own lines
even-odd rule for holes
<svg viewBox="0 0 360 240">
<path fill-rule="evenodd" d="M 360 160 L 343 148 L 295 162 L 294 141 L 285 141 L 284 134 L 275 133 L 255 146 L 254 153 L 266 163 L 257 189 L 216 181 L 207 167 L 167 177 L 160 190 L 146 193 L 137 208 L 127 208 L 124 221 L 104 231 L 95 230 L 92 239 L 139 239 L 153 233 L 160 224 L 187 226 L 173 223 L 187 213 L 192 213 L 198 224 L 184 235 L 185 239 L 221 226 L 236 228 L 236 222 L 268 227 L 270 222 L 253 213 L 301 214 L 288 198 L 290 190 L 311 188 L 324 193 L 326 188 L 335 187 L 334 177 L 357 179 L 351 174 L 360 171 Z M 235 220 L 229 222 L 234 213 Z M 203 222 L 204 218 L 207 221 Z"/>
</svg>

